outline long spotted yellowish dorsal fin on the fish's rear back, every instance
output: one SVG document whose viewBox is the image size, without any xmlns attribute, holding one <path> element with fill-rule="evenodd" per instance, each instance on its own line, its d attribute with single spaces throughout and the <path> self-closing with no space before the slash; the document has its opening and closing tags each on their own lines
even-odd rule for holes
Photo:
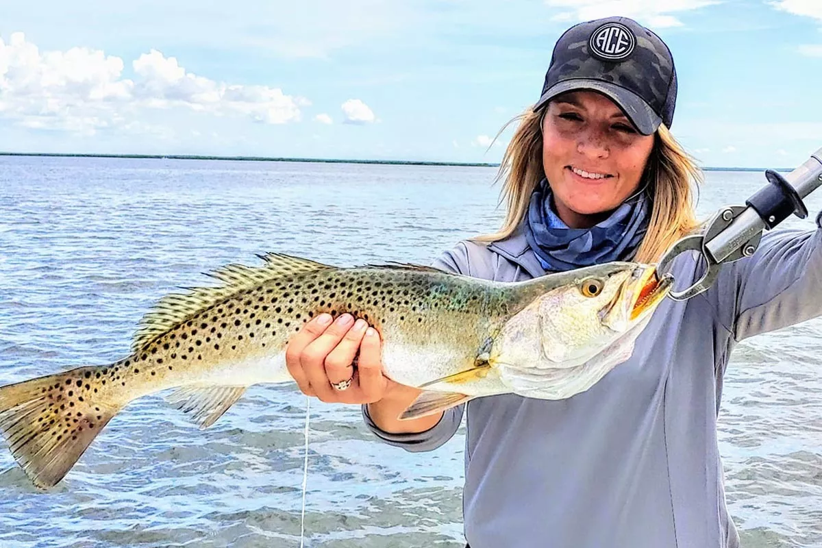
<svg viewBox="0 0 822 548">
<path fill-rule="evenodd" d="M 219 279 L 222 285 L 210 288 L 182 288 L 187 289 L 188 293 L 169 293 L 162 297 L 140 320 L 140 328 L 137 329 L 132 342 L 132 352 L 150 343 L 159 334 L 172 329 L 174 325 L 235 293 L 256 288 L 270 279 L 335 268 L 282 253 L 266 253 L 258 257 L 266 263 L 261 266 L 230 264 L 205 273 Z"/>
</svg>

